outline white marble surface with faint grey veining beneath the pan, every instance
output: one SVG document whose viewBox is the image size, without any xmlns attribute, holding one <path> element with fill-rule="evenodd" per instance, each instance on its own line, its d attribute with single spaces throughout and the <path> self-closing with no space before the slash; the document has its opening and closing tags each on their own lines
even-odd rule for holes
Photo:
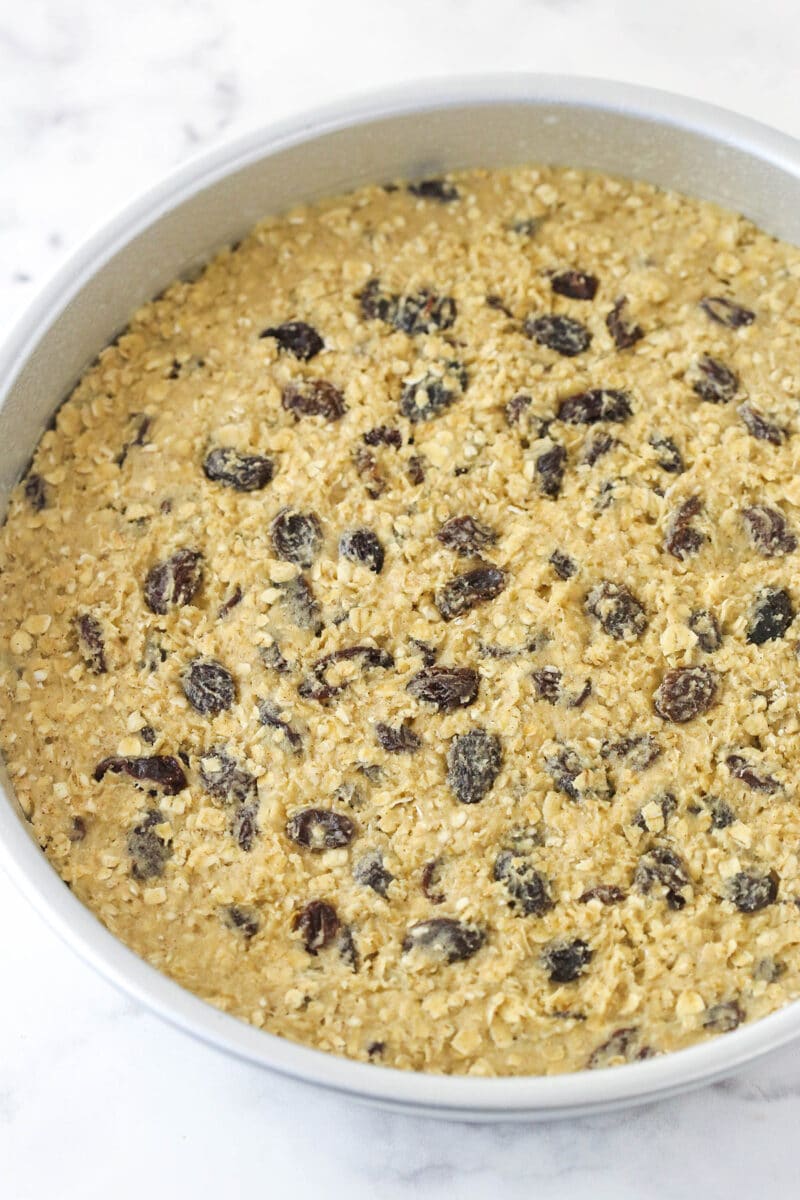
<svg viewBox="0 0 800 1200">
<path fill-rule="evenodd" d="M 788 0 L 0 0 L 0 326 L 198 149 L 354 89 L 486 70 L 685 91 L 800 134 Z M 0 1196 L 796 1194 L 800 1045 L 637 1112 L 387 1116 L 230 1062 L 77 961 L 0 877 Z"/>
</svg>

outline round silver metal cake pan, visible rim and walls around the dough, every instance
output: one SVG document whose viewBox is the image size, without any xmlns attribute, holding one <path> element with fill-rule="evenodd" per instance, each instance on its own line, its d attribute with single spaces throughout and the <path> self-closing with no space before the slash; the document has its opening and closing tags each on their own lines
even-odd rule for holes
<svg viewBox="0 0 800 1200">
<path fill-rule="evenodd" d="M 800 242 L 800 144 L 663 92 L 557 76 L 405 86 L 306 114 L 181 168 L 97 233 L 0 350 L 0 499 L 92 358 L 133 310 L 260 217 L 360 184 L 458 167 L 585 167 L 745 214 Z M 479 1079 L 350 1062 L 264 1033 L 137 958 L 61 882 L 5 780 L 0 862 L 106 978 L 215 1046 L 385 1108 L 461 1120 L 536 1120 L 621 1108 L 718 1079 L 800 1034 L 800 1003 L 703 1045 L 570 1075 Z"/>
</svg>

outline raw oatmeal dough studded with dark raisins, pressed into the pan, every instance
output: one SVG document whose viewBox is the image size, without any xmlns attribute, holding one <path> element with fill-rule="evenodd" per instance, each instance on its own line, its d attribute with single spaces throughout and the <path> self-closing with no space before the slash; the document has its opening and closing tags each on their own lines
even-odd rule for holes
<svg viewBox="0 0 800 1200">
<path fill-rule="evenodd" d="M 263 222 L 86 371 L 0 546 L 0 738 L 115 935 L 474 1075 L 800 992 L 800 253 L 573 170 Z"/>
</svg>

